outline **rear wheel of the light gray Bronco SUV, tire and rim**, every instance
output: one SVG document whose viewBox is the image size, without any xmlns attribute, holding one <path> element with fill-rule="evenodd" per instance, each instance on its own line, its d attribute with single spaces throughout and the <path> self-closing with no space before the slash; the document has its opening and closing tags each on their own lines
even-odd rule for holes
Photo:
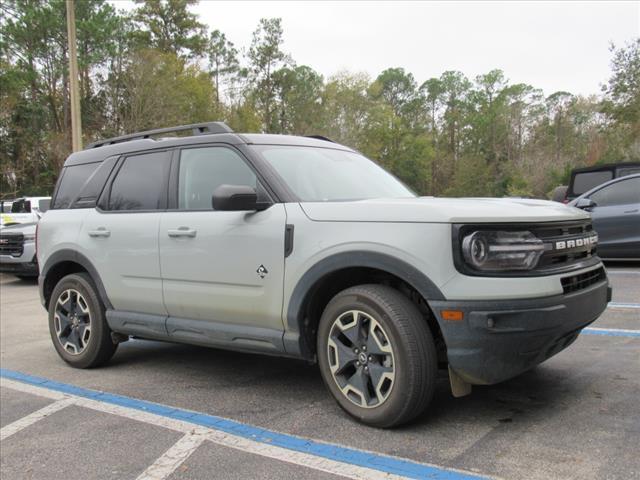
<svg viewBox="0 0 640 480">
<path fill-rule="evenodd" d="M 77 368 L 104 364 L 118 347 L 111 339 L 104 305 L 85 273 L 67 275 L 53 289 L 49 332 L 58 355 Z"/>
</svg>

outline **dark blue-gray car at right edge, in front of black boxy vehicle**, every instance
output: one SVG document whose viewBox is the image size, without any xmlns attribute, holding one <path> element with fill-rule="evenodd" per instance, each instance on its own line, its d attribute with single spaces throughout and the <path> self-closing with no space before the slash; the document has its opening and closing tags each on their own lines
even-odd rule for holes
<svg viewBox="0 0 640 480">
<path fill-rule="evenodd" d="M 640 174 L 598 185 L 569 205 L 591 212 L 601 258 L 640 260 Z"/>
</svg>

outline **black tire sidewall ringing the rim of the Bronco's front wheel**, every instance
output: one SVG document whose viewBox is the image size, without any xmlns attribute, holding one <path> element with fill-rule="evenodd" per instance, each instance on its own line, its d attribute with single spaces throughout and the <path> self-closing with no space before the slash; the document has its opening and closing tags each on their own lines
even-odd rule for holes
<svg viewBox="0 0 640 480">
<path fill-rule="evenodd" d="M 344 396 L 331 374 L 327 358 L 327 339 L 335 319 L 349 310 L 361 310 L 377 320 L 387 334 L 393 349 L 395 368 L 393 387 L 387 399 L 377 407 L 363 408 L 351 402 Z M 325 385 L 343 410 L 364 423 L 378 426 L 385 426 L 390 419 L 402 414 L 405 408 L 403 396 L 406 389 L 409 388 L 410 375 L 407 371 L 407 354 L 401 345 L 400 332 L 391 319 L 389 312 L 374 299 L 366 295 L 353 293 L 339 295 L 329 302 L 322 314 L 318 328 L 318 364 Z"/>
</svg>

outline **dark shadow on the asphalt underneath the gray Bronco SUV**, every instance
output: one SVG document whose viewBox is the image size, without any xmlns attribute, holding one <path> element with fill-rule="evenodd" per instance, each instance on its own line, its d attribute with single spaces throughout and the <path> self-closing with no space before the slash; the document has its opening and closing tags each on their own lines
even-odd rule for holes
<svg viewBox="0 0 640 480">
<path fill-rule="evenodd" d="M 144 369 L 148 375 L 163 375 L 168 382 L 177 381 L 183 388 L 216 395 L 238 393 L 234 401 L 235 413 L 253 410 L 240 393 L 251 389 L 250 395 L 268 397 L 266 403 L 288 403 L 294 409 L 309 402 L 326 403 L 328 414 L 345 415 L 326 391 L 316 365 L 281 357 L 239 353 L 132 339 L 120 346 L 111 362 L 100 370 Z M 169 378 L 169 375 L 171 378 Z M 518 377 L 497 385 L 474 386 L 471 395 L 454 398 L 451 395 L 446 370 L 438 372 L 436 391 L 429 408 L 403 431 L 420 431 L 447 418 L 468 415 L 484 416 L 494 425 L 535 420 L 566 405 L 581 395 L 580 383 L 567 382 L 567 372 L 549 365 L 541 365 Z M 265 400 L 267 400 L 265 398 Z M 209 411 L 218 415 L 233 415 L 233 411 Z M 345 415 L 346 418 L 346 415 Z M 355 425 L 355 424 L 354 424 Z M 358 428 L 369 429 L 364 425 Z M 396 429 L 398 430 L 398 429 Z"/>
</svg>

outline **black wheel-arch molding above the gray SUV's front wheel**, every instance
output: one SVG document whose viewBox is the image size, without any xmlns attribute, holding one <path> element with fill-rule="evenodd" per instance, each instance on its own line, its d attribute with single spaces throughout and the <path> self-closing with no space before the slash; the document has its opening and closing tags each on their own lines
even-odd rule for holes
<svg viewBox="0 0 640 480">
<path fill-rule="evenodd" d="M 296 284 L 286 312 L 286 329 L 283 337 L 287 353 L 309 360 L 313 348 L 304 336 L 304 307 L 308 295 L 326 275 L 345 268 L 374 268 L 390 273 L 407 282 L 427 300 L 445 300 L 440 289 L 420 270 L 403 260 L 384 253 L 351 251 L 331 255 L 320 260 L 300 278 Z"/>
</svg>

